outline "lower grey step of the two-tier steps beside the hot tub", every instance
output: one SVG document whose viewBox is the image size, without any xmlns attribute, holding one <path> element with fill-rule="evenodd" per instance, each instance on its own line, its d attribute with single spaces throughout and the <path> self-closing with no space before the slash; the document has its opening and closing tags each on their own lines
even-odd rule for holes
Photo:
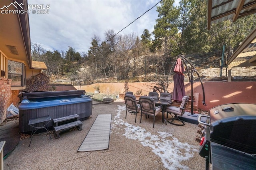
<svg viewBox="0 0 256 170">
<path fill-rule="evenodd" d="M 66 123 L 64 125 L 53 127 L 55 138 L 56 139 L 60 138 L 60 132 L 69 130 L 73 127 L 78 127 L 78 130 L 80 131 L 80 130 L 82 130 L 82 125 L 83 125 L 83 123 L 81 121 L 74 121 L 74 122 L 71 122 L 71 123 Z"/>
</svg>

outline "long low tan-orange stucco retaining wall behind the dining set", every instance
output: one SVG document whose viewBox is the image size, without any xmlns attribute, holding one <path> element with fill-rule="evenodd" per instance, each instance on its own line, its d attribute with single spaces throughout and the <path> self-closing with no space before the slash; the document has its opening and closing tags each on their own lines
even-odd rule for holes
<svg viewBox="0 0 256 170">
<path fill-rule="evenodd" d="M 74 86 L 76 89 L 94 92 L 93 86 L 100 85 L 100 92 L 106 93 L 107 87 L 114 92 L 124 93 L 124 83 L 97 83 L 87 86 Z M 256 104 L 256 82 L 203 82 L 206 106 L 202 104 L 203 92 L 200 82 L 193 83 L 194 93 L 199 93 L 199 109 L 208 111 L 212 107 L 226 103 L 255 103 Z M 129 91 L 136 93 L 142 90 L 142 94 L 153 91 L 147 83 L 128 83 Z M 168 91 L 172 93 L 173 82 L 170 83 Z M 185 92 L 189 95 L 191 91 L 190 82 L 185 82 Z"/>
</svg>

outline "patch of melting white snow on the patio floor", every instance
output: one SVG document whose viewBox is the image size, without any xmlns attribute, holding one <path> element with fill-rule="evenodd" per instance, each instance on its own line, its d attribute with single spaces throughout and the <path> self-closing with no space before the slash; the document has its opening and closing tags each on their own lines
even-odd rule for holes
<svg viewBox="0 0 256 170">
<path fill-rule="evenodd" d="M 123 135 L 132 140 L 139 140 L 143 146 L 152 148 L 152 152 L 161 158 L 165 168 L 170 170 L 189 169 L 182 162 L 198 154 L 198 146 L 190 145 L 186 142 L 182 143 L 167 132 L 158 132 L 158 135 L 155 135 L 146 131 L 145 128 L 131 125 L 120 118 L 122 111 L 125 110 L 125 105 L 118 106 L 111 128 L 124 125 L 126 128 L 124 128 L 125 133 Z"/>
</svg>

